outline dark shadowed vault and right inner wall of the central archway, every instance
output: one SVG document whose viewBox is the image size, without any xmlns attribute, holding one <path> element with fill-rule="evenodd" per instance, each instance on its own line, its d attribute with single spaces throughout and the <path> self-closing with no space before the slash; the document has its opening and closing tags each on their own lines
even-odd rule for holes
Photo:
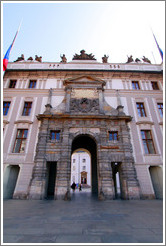
<svg viewBox="0 0 166 246">
<path fill-rule="evenodd" d="M 72 153 L 83 148 L 91 154 L 91 180 L 92 180 L 92 194 L 98 194 L 98 178 L 97 178 L 97 145 L 95 140 L 89 135 L 79 135 L 73 140 Z M 71 154 L 72 154 L 71 153 Z"/>
</svg>

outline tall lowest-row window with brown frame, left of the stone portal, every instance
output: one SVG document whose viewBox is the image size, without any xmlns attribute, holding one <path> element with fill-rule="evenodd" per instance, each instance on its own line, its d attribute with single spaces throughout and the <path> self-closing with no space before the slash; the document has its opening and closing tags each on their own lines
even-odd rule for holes
<svg viewBox="0 0 166 246">
<path fill-rule="evenodd" d="M 16 140 L 14 143 L 13 153 L 23 153 L 25 151 L 25 144 L 27 139 L 28 130 L 18 129 Z"/>
</svg>

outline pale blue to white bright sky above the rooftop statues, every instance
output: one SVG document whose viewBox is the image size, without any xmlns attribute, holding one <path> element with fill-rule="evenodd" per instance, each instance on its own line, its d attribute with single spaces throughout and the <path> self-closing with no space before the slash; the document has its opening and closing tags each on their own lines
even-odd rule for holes
<svg viewBox="0 0 166 246">
<path fill-rule="evenodd" d="M 104 54 L 110 63 L 148 57 L 153 64 L 165 49 L 165 1 L 1 1 L 3 55 L 20 31 L 9 61 L 21 54 L 42 56 L 43 62 L 60 62 L 65 54 L 72 61 L 84 49 L 98 62 Z"/>
</svg>

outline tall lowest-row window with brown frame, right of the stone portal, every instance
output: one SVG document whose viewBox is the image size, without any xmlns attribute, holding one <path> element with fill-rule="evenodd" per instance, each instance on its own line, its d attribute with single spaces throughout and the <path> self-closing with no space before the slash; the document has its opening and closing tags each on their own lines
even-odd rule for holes
<svg viewBox="0 0 166 246">
<path fill-rule="evenodd" d="M 141 130 L 145 154 L 155 154 L 152 135 L 150 130 Z"/>
</svg>

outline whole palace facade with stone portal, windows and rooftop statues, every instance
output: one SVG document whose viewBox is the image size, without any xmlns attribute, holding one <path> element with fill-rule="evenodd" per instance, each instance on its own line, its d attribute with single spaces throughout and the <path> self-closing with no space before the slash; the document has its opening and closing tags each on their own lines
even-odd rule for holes
<svg viewBox="0 0 166 246">
<path fill-rule="evenodd" d="M 4 74 L 4 198 L 70 199 L 71 156 L 99 199 L 162 199 L 163 68 L 144 59 L 22 55 Z"/>
</svg>

